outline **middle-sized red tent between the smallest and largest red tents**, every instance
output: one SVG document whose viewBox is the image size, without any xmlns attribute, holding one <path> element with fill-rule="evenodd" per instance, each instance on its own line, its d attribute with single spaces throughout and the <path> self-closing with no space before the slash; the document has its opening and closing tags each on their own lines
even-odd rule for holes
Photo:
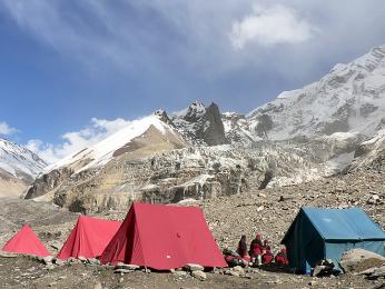
<svg viewBox="0 0 385 289">
<path fill-rule="evenodd" d="M 101 255 L 121 221 L 109 221 L 91 217 L 79 217 L 58 258 L 67 260 L 70 257 L 96 258 Z"/>
</svg>

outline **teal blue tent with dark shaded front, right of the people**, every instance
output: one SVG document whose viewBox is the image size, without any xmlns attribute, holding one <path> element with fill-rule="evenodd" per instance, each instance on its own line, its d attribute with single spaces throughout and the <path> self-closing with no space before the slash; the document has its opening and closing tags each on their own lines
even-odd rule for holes
<svg viewBox="0 0 385 289">
<path fill-rule="evenodd" d="M 282 243 L 289 266 L 300 273 L 309 273 L 322 259 L 338 266 L 342 255 L 351 249 L 385 256 L 385 232 L 359 208 L 303 207 Z"/>
</svg>

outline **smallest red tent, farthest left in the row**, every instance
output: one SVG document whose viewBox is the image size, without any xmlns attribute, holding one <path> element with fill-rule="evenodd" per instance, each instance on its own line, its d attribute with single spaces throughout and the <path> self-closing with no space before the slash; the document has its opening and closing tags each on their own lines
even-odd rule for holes
<svg viewBox="0 0 385 289">
<path fill-rule="evenodd" d="M 50 256 L 45 245 L 32 229 L 24 225 L 21 230 L 14 235 L 1 249 L 7 252 L 29 253 L 36 256 Z"/>
</svg>

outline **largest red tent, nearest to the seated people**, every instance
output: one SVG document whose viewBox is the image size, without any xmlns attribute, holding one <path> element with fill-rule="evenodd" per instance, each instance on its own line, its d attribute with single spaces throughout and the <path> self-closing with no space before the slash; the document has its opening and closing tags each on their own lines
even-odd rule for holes
<svg viewBox="0 0 385 289">
<path fill-rule="evenodd" d="M 199 208 L 148 203 L 131 206 L 100 261 L 158 270 L 186 263 L 227 267 Z"/>
</svg>

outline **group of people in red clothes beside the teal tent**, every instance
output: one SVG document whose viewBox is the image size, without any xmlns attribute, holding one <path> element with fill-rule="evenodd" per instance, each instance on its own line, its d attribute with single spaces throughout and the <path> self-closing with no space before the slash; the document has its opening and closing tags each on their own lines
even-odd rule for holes
<svg viewBox="0 0 385 289">
<path fill-rule="evenodd" d="M 247 262 L 260 266 L 274 261 L 278 265 L 288 265 L 286 249 L 283 248 L 276 256 L 274 256 L 268 240 L 265 239 L 263 241 L 260 233 L 257 233 L 249 247 L 247 246 L 246 236 L 241 236 L 237 248 L 237 255 L 245 263 Z M 230 258 L 227 259 L 230 260 Z"/>
</svg>

